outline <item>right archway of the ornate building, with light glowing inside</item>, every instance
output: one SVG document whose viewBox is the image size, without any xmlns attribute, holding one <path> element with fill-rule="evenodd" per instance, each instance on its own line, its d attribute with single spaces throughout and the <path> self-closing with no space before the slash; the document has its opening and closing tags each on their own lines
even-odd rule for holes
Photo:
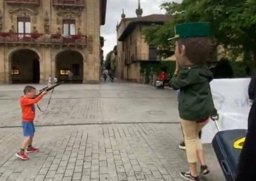
<svg viewBox="0 0 256 181">
<path fill-rule="evenodd" d="M 72 50 L 62 51 L 56 56 L 56 74 L 65 83 L 83 83 L 83 56 Z"/>
</svg>

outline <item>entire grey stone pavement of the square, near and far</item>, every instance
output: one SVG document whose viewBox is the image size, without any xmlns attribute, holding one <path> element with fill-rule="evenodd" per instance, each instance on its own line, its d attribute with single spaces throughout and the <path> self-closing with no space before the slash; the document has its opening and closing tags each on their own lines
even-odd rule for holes
<svg viewBox="0 0 256 181">
<path fill-rule="evenodd" d="M 22 130 L 15 127 L 23 86 L 0 86 L 0 181 L 182 180 L 179 172 L 188 167 L 178 149 L 182 134 L 172 91 L 121 83 L 58 87 L 35 122 L 40 152 L 20 161 L 14 154 Z M 211 173 L 201 180 L 224 180 L 210 145 L 205 152 Z"/>
</svg>

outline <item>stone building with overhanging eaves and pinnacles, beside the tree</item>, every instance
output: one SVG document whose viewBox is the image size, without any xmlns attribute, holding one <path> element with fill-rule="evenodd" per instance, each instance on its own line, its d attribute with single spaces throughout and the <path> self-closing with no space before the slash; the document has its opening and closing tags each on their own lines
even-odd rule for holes
<svg viewBox="0 0 256 181">
<path fill-rule="evenodd" d="M 157 47 L 148 45 L 142 35 L 143 30 L 148 26 L 162 25 L 170 21 L 171 17 L 165 14 L 151 14 L 142 16 L 143 10 L 138 1 L 135 18 L 125 18 L 124 10 L 121 21 L 116 26 L 117 31 L 117 56 L 116 56 L 116 76 L 140 83 L 141 63 L 159 62 Z"/>
</svg>

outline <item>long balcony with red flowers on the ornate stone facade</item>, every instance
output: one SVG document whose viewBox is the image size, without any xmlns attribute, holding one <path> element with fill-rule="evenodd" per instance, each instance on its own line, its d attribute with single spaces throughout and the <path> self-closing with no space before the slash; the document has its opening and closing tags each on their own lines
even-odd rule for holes
<svg viewBox="0 0 256 181">
<path fill-rule="evenodd" d="M 45 35 L 45 34 L 20 34 L 0 32 L 0 45 L 8 44 L 38 44 L 46 46 L 86 46 L 87 36 L 85 35 Z"/>
</svg>

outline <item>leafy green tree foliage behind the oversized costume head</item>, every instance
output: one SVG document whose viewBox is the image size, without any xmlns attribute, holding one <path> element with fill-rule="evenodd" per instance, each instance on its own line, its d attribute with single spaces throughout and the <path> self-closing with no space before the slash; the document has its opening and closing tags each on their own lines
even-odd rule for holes
<svg viewBox="0 0 256 181">
<path fill-rule="evenodd" d="M 254 54 L 256 59 L 255 0 L 183 0 L 161 5 L 172 20 L 162 26 L 147 28 L 143 35 L 147 43 L 167 50 L 173 47 L 168 38 L 174 36 L 174 26 L 180 23 L 208 21 L 214 30 L 216 45 L 223 45 L 237 55 Z"/>
</svg>

